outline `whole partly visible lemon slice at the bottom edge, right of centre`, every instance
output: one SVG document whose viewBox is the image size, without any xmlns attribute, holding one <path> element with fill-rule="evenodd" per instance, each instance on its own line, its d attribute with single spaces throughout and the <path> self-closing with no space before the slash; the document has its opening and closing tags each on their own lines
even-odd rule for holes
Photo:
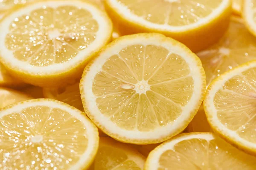
<svg viewBox="0 0 256 170">
<path fill-rule="evenodd" d="M 145 170 L 255 170 L 255 161 L 213 133 L 183 133 L 152 150 Z"/>
</svg>

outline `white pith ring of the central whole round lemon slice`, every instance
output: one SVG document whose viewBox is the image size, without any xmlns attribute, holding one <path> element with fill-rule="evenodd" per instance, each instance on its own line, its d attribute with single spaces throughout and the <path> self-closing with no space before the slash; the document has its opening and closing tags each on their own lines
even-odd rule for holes
<svg viewBox="0 0 256 170">
<path fill-rule="evenodd" d="M 121 49 L 129 46 L 129 45 L 160 45 L 164 48 L 168 49 L 172 53 L 179 54 L 183 59 L 186 60 L 190 67 L 191 77 L 194 80 L 194 93 L 188 104 L 183 107 L 183 113 L 173 124 L 166 125 L 164 127 L 156 128 L 150 132 L 141 132 L 139 130 L 125 130 L 118 126 L 116 126 L 111 120 L 105 117 L 102 113 L 100 113 L 97 105 L 96 105 L 96 96 L 94 96 L 92 91 L 93 80 L 96 74 L 102 70 L 102 66 L 107 61 L 109 57 L 114 54 L 117 54 Z M 175 133 L 175 130 L 183 127 L 183 122 L 186 121 L 191 115 L 190 112 L 198 105 L 198 101 L 201 99 L 201 88 L 203 84 L 203 80 L 201 77 L 201 71 L 198 68 L 198 63 L 195 61 L 193 57 L 190 57 L 191 54 L 188 54 L 183 48 L 179 45 L 172 44 L 169 41 L 163 41 L 163 37 L 161 36 L 152 36 L 152 37 L 136 37 L 133 39 L 124 39 L 119 40 L 118 45 L 114 45 L 108 50 L 104 51 L 100 54 L 100 56 L 93 62 L 90 66 L 90 70 L 87 72 L 85 77 L 82 80 L 82 85 L 84 86 L 84 92 L 81 96 L 84 96 L 86 107 L 90 113 L 93 114 L 94 119 L 97 122 L 106 128 L 106 130 L 111 133 L 117 134 L 121 137 L 126 137 L 129 139 L 160 139 L 161 137 L 165 137 L 170 133 Z M 199 76 L 200 75 L 200 76 Z M 81 85 L 80 83 L 80 85 Z"/>
</svg>

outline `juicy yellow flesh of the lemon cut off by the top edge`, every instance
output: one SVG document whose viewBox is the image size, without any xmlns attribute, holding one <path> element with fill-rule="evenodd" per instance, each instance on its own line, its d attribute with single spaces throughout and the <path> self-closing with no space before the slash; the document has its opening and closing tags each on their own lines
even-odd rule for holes
<svg viewBox="0 0 256 170">
<path fill-rule="evenodd" d="M 151 23 L 185 26 L 207 17 L 222 0 L 118 0 L 131 13 Z M 143 8 L 142 8 L 143 7 Z M 161 12 L 160 12 L 161 11 Z"/>
</svg>

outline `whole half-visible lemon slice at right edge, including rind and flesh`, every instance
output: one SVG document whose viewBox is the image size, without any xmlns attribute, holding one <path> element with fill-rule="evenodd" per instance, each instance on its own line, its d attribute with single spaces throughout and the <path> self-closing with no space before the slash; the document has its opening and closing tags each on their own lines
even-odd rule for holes
<svg viewBox="0 0 256 170">
<path fill-rule="evenodd" d="M 204 100 L 212 129 L 237 147 L 256 155 L 256 62 L 247 62 L 213 81 Z"/>
</svg>

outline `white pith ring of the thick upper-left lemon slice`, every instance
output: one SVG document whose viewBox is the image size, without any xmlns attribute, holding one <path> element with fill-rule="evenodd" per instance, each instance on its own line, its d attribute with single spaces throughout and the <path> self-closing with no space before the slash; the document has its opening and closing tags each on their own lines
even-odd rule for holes
<svg viewBox="0 0 256 170">
<path fill-rule="evenodd" d="M 93 16 L 93 19 L 95 19 L 99 24 L 99 30 L 96 32 L 96 39 L 87 47 L 86 49 L 79 51 L 79 53 L 71 59 L 68 62 L 64 62 L 61 64 L 53 64 L 49 66 L 44 67 L 38 67 L 30 65 L 28 62 L 23 62 L 18 59 L 16 59 L 13 56 L 12 50 L 9 50 L 6 48 L 5 45 L 5 37 L 9 33 L 9 26 L 12 23 L 12 21 L 16 17 L 20 17 L 24 14 L 29 15 L 31 11 L 42 8 L 42 6 L 49 6 L 51 8 L 57 8 L 59 6 L 76 6 L 78 8 L 84 8 Z M 100 48 L 104 44 L 104 40 L 108 39 L 108 34 L 106 32 L 106 29 L 108 30 L 109 23 L 106 20 L 105 16 L 102 15 L 102 12 L 97 9 L 95 6 L 90 5 L 90 3 L 83 3 L 81 1 L 74 1 L 72 0 L 60 0 L 60 1 L 46 1 L 46 2 L 40 2 L 40 3 L 32 3 L 29 6 L 26 6 L 25 8 L 20 8 L 17 11 L 13 12 L 7 17 L 4 17 L 3 20 L 0 23 L 0 55 L 3 57 L 4 62 L 11 65 L 12 68 L 18 68 L 19 70 L 24 70 L 26 72 L 29 72 L 31 74 L 54 74 L 58 73 L 60 71 L 66 71 L 67 69 L 73 68 L 76 65 L 79 65 L 79 63 L 83 62 L 88 56 L 93 54 L 97 48 Z M 110 28 L 109 28 L 110 29 Z"/>
</svg>

